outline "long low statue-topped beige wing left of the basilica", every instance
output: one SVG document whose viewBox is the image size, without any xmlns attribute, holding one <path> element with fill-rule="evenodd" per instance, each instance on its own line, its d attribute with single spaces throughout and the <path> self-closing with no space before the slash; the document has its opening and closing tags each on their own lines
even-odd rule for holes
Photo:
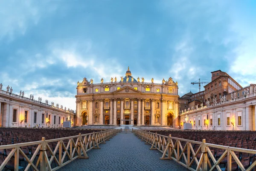
<svg viewBox="0 0 256 171">
<path fill-rule="evenodd" d="M 34 95 L 29 98 L 12 93 L 12 87 L 0 84 L 0 126 L 5 127 L 41 127 L 59 128 L 63 121 L 70 120 L 74 126 L 75 113 L 70 109 L 63 109 L 58 104 L 49 105 L 46 100 L 42 102 L 34 99 Z"/>
</svg>

